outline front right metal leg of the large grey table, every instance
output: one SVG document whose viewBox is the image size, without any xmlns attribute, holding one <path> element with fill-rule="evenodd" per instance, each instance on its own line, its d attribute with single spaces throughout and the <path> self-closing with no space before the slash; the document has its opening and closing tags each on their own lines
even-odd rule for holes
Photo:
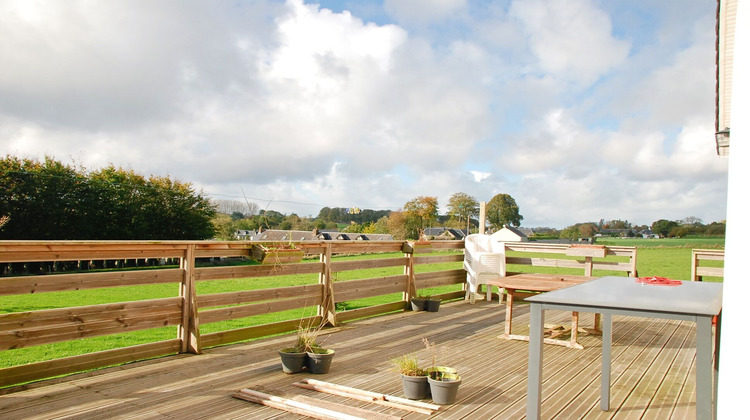
<svg viewBox="0 0 750 420">
<path fill-rule="evenodd" d="M 695 409 L 699 419 L 713 418 L 713 343 L 711 340 L 712 316 L 696 317 Z"/>
</svg>

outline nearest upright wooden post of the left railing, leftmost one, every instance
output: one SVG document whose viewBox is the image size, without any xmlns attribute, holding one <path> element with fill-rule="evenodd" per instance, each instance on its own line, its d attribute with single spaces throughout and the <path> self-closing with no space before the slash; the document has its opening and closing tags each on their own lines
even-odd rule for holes
<svg viewBox="0 0 750 420">
<path fill-rule="evenodd" d="M 195 294 L 195 244 L 188 244 L 180 260 L 183 279 L 180 284 L 182 299 L 182 322 L 177 329 L 180 339 L 180 352 L 201 354 L 200 327 L 198 322 L 198 305 Z"/>
</svg>

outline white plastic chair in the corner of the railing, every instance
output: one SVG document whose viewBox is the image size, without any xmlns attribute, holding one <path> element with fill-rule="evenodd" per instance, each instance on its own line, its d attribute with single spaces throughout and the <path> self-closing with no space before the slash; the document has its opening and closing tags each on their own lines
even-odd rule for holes
<svg viewBox="0 0 750 420">
<path fill-rule="evenodd" d="M 479 285 L 487 285 L 487 280 L 505 276 L 505 244 L 493 240 L 489 235 L 472 234 L 466 237 L 464 245 L 464 270 L 468 288 L 466 297 L 471 299 Z M 492 286 L 487 285 L 487 301 L 492 299 Z"/>
</svg>

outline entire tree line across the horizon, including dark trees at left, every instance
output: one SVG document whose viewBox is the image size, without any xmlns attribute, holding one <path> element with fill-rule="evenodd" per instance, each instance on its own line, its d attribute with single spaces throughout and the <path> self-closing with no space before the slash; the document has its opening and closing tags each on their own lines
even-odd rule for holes
<svg viewBox="0 0 750 420">
<path fill-rule="evenodd" d="M 169 177 L 144 177 L 109 166 L 97 171 L 63 164 L 50 157 L 39 162 L 6 156 L 0 159 L 0 239 L 122 240 L 235 238 L 237 230 L 330 229 L 387 233 L 394 239 L 417 239 L 428 227 L 478 230 L 479 201 L 453 194 L 447 213 L 438 214 L 438 199 L 418 196 L 396 211 L 323 207 L 317 217 L 259 210 L 255 203 L 210 200 L 191 184 Z M 520 226 L 515 199 L 496 194 L 486 206 L 490 229 Z M 724 222 L 705 225 L 699 218 L 660 219 L 650 226 L 627 220 L 576 223 L 562 230 L 538 229 L 535 237 L 599 235 L 635 236 L 650 229 L 662 237 L 723 235 Z"/>
</svg>

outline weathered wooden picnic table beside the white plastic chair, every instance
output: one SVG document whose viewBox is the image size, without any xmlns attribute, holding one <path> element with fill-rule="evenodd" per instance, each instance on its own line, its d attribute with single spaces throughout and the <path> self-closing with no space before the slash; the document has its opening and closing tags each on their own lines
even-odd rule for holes
<svg viewBox="0 0 750 420">
<path fill-rule="evenodd" d="M 506 340 L 523 340 L 529 341 L 529 336 L 513 334 L 513 300 L 517 296 L 517 292 L 528 291 L 542 293 L 550 292 L 552 290 L 563 289 L 576 284 L 585 283 L 591 281 L 597 277 L 591 276 L 577 276 L 577 275 L 561 275 L 561 274 L 511 274 L 504 277 L 498 277 L 487 282 L 488 285 L 497 286 L 505 289 L 505 293 L 508 298 L 505 303 L 505 333 L 500 336 Z M 500 299 L 502 302 L 502 298 Z M 599 316 L 595 317 L 594 332 L 601 332 L 599 329 Z M 559 337 L 567 332 L 570 332 L 570 340 L 560 340 Z M 544 339 L 546 344 L 561 345 L 569 348 L 582 349 L 583 346 L 578 343 L 578 312 L 573 312 L 571 319 L 570 329 L 557 329 L 550 331 L 549 336 Z"/>
</svg>

